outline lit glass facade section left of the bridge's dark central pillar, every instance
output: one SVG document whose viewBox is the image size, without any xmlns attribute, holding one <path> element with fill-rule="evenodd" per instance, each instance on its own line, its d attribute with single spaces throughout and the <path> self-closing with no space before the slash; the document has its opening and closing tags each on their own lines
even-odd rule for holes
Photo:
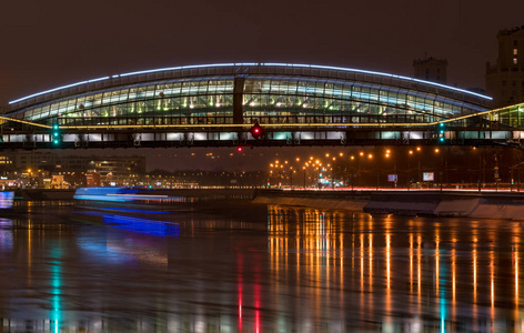
<svg viewBox="0 0 524 333">
<path fill-rule="evenodd" d="M 200 78 L 125 87 L 48 103 L 20 114 L 62 125 L 232 122 L 232 78 Z"/>
</svg>

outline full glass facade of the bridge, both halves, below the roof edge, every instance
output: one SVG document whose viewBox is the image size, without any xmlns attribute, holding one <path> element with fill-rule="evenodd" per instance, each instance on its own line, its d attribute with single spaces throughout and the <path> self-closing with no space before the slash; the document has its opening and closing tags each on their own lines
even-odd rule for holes
<svg viewBox="0 0 524 333">
<path fill-rule="evenodd" d="M 488 110 L 487 101 L 452 98 L 444 88 L 410 89 L 375 78 L 347 80 L 295 72 L 239 74 L 238 71 L 229 75 L 180 77 L 71 93 L 14 108 L 8 115 L 68 127 L 162 127 L 233 124 L 234 110 L 240 110 L 244 124 L 254 121 L 423 124 Z"/>
</svg>

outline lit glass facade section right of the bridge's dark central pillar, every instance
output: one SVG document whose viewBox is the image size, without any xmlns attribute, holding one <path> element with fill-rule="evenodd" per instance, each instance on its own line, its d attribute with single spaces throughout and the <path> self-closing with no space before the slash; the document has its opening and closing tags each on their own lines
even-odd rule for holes
<svg viewBox="0 0 524 333">
<path fill-rule="evenodd" d="M 248 123 L 427 123 L 486 109 L 383 84 L 252 77 L 243 110 Z"/>
</svg>

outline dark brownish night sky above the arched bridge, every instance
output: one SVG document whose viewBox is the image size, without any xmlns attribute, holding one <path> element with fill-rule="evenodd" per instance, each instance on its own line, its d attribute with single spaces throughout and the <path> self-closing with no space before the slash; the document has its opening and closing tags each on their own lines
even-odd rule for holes
<svg viewBox="0 0 524 333">
<path fill-rule="evenodd" d="M 524 26 L 522 0 L 6 1 L 0 105 L 82 80 L 198 63 L 314 63 L 412 77 L 424 54 L 449 60 L 450 84 L 484 89 L 497 31 Z"/>
</svg>

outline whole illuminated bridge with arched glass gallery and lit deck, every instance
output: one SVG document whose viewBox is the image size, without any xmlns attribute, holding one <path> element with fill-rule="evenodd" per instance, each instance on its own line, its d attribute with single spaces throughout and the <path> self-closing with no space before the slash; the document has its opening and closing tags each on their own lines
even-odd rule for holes
<svg viewBox="0 0 524 333">
<path fill-rule="evenodd" d="M 0 118 L 0 149 L 520 145 L 524 104 L 490 105 L 491 98 L 475 92 L 357 69 L 185 65 L 98 78 L 11 101 Z M 255 123 L 260 138 L 252 133 Z"/>
</svg>

